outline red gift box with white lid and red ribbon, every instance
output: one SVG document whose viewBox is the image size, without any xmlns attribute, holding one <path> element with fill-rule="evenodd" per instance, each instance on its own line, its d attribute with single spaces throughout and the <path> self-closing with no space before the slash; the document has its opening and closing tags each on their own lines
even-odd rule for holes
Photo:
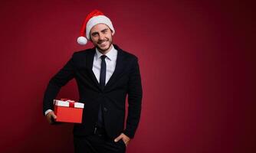
<svg viewBox="0 0 256 153">
<path fill-rule="evenodd" d="M 71 99 L 54 99 L 54 113 L 57 122 L 81 123 L 84 103 L 77 103 Z"/>
</svg>

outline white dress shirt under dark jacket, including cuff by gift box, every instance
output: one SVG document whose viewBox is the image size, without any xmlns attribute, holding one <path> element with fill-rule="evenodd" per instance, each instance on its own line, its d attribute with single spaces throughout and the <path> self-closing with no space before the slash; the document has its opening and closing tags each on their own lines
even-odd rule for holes
<svg viewBox="0 0 256 153">
<path fill-rule="evenodd" d="M 94 63 L 93 63 L 93 71 L 94 76 L 97 78 L 98 83 L 100 83 L 100 67 L 101 67 L 101 56 L 103 54 L 100 53 L 100 51 L 96 48 L 96 53 L 94 54 Z M 117 50 L 113 47 L 111 50 L 105 54 L 107 57 L 105 58 L 106 61 L 106 84 L 110 80 L 110 77 L 113 74 L 113 71 L 116 69 L 117 64 Z M 45 116 L 48 114 L 48 112 L 51 112 L 51 109 L 48 109 L 44 112 Z"/>
</svg>

